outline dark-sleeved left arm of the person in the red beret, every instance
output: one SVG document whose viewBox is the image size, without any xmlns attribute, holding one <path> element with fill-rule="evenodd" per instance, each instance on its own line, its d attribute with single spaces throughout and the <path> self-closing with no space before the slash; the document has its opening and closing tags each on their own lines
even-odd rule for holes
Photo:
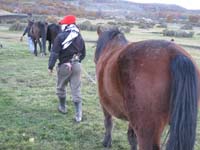
<svg viewBox="0 0 200 150">
<path fill-rule="evenodd" d="M 61 44 L 60 44 L 60 39 L 59 36 L 57 36 L 54 40 L 52 51 L 49 57 L 49 64 L 48 64 L 48 69 L 53 70 L 55 63 L 59 57 L 59 52 L 62 50 Z"/>
</svg>

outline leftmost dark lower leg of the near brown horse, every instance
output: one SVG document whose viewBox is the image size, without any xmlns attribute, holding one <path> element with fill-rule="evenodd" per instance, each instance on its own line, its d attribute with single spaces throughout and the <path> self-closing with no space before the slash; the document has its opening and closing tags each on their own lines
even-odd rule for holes
<svg viewBox="0 0 200 150">
<path fill-rule="evenodd" d="M 105 108 L 103 108 L 103 113 L 104 113 L 104 126 L 106 129 L 105 132 L 105 136 L 104 136 L 104 140 L 103 140 L 103 146 L 104 147 L 111 147 L 112 145 L 112 127 L 113 127 L 113 123 L 112 123 L 112 116 L 105 110 Z"/>
</svg>

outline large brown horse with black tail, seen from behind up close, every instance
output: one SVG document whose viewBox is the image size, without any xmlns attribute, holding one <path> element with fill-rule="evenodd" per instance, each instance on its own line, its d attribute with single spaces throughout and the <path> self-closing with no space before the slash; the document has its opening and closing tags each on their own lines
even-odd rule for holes
<svg viewBox="0 0 200 150">
<path fill-rule="evenodd" d="M 117 29 L 102 32 L 95 52 L 100 103 L 112 142 L 112 116 L 129 122 L 131 150 L 160 150 L 169 124 L 167 150 L 193 150 L 200 75 L 191 56 L 171 41 L 128 43 Z"/>
</svg>

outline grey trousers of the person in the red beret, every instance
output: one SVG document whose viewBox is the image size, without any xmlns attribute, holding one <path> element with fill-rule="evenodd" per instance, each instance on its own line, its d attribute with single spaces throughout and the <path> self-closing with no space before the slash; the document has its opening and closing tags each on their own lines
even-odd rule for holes
<svg viewBox="0 0 200 150">
<path fill-rule="evenodd" d="M 57 67 L 57 91 L 58 97 L 66 97 L 66 86 L 70 84 L 72 100 L 81 102 L 81 64 L 75 62 L 69 70 L 66 64 Z"/>
</svg>

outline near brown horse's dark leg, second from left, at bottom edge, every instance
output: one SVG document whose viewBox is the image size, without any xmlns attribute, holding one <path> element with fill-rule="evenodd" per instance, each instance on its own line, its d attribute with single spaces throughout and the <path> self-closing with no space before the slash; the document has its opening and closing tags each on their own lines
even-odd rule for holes
<svg viewBox="0 0 200 150">
<path fill-rule="evenodd" d="M 133 128 L 130 126 L 130 124 L 129 124 L 129 127 L 128 127 L 127 135 L 128 135 L 129 144 L 131 145 L 131 150 L 137 150 L 136 135 L 135 135 Z"/>
</svg>

